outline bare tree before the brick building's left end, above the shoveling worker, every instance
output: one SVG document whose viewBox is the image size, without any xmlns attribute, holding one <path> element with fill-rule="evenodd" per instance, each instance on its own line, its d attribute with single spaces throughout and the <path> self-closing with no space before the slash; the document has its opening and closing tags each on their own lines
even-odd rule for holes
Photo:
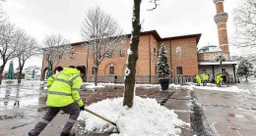
<svg viewBox="0 0 256 136">
<path fill-rule="evenodd" d="M 70 45 L 69 40 L 65 39 L 61 34 L 46 35 L 43 40 L 43 58 L 48 62 L 51 67 L 50 73 L 53 73 L 61 61 L 74 57 L 74 48 Z"/>
</svg>

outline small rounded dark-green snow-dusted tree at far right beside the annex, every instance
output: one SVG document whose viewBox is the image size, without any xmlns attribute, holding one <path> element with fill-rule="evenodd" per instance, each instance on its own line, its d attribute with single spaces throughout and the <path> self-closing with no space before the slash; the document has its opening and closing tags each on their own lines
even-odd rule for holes
<svg viewBox="0 0 256 136">
<path fill-rule="evenodd" d="M 238 76 L 244 76 L 246 78 L 246 81 L 248 81 L 248 77 L 250 75 L 253 75 L 253 65 L 248 62 L 248 60 L 243 60 L 238 68 L 237 68 L 237 75 Z"/>
</svg>

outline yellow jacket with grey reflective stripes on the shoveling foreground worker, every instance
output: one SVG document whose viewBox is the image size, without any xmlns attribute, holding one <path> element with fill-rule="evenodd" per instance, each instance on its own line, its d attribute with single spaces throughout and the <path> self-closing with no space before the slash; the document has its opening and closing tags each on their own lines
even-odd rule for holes
<svg viewBox="0 0 256 136">
<path fill-rule="evenodd" d="M 79 90 L 82 85 L 80 71 L 76 68 L 64 68 L 47 79 L 48 96 L 46 105 L 64 107 L 76 102 L 79 107 L 84 105 Z"/>
</svg>

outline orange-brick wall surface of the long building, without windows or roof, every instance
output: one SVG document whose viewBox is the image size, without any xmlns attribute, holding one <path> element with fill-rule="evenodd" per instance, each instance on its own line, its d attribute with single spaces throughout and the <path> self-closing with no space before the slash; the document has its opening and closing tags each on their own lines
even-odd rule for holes
<svg viewBox="0 0 256 136">
<path fill-rule="evenodd" d="M 183 67 L 182 75 L 194 75 L 198 72 L 196 38 L 158 41 L 158 39 L 153 34 L 144 34 L 140 37 L 140 43 L 138 48 L 139 59 L 136 66 L 136 75 L 137 77 L 141 77 L 141 82 L 150 82 L 150 76 L 152 76 L 152 80 L 157 79 L 156 65 L 158 63 L 158 52 L 161 43 L 164 43 L 168 51 L 167 59 L 169 65 L 174 68 L 173 76 L 176 76 L 176 66 Z M 99 65 L 98 76 L 102 76 L 102 78 L 104 76 L 112 78 L 112 76 L 114 75 L 117 75 L 118 77 L 123 77 L 127 62 L 127 50 L 130 47 L 129 44 L 130 38 L 128 37 L 125 41 L 125 51 L 123 57 L 120 57 L 120 52 L 116 51 L 111 58 L 104 58 L 104 60 Z M 182 53 L 180 55 L 176 55 L 175 53 L 175 49 L 177 46 L 180 46 L 182 49 Z M 92 53 L 89 53 L 89 58 L 87 60 L 88 55 L 85 47 L 80 44 L 75 45 L 74 47 L 76 52 L 75 59 L 68 59 L 60 62 L 58 66 L 69 67 L 72 65 L 87 67 L 88 61 L 88 76 L 93 77 L 92 68 L 94 67 L 94 60 Z M 154 53 L 154 49 L 156 53 Z M 114 74 L 109 74 L 110 66 L 114 67 Z M 42 71 L 42 73 L 44 74 L 47 68 L 46 60 L 43 60 L 42 69 L 43 68 L 44 70 Z M 138 78 L 138 80 L 140 79 Z"/>
</svg>

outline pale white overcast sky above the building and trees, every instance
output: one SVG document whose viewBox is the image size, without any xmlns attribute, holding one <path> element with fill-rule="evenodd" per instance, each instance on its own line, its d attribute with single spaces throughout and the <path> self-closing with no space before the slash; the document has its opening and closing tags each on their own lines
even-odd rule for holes
<svg viewBox="0 0 256 136">
<path fill-rule="evenodd" d="M 90 8 L 100 7 L 126 33 L 132 29 L 133 0 L 6 0 L 3 8 L 11 23 L 15 23 L 41 42 L 46 34 L 60 33 L 71 42 L 82 41 L 80 27 Z M 202 33 L 198 47 L 218 45 L 216 6 L 213 0 L 160 0 L 154 5 L 143 0 L 141 23 L 144 31 L 157 30 L 160 37 Z M 233 32 L 232 12 L 239 0 L 224 0 L 228 14 L 227 34 Z M 230 50 L 232 54 L 232 50 Z"/>
</svg>

